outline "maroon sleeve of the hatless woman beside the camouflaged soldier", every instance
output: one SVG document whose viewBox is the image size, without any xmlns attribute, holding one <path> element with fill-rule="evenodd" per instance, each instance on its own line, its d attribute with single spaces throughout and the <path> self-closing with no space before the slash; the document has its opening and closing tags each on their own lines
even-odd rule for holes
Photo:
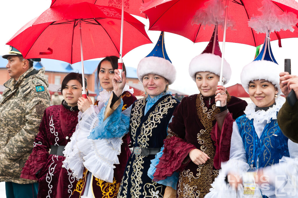
<svg viewBox="0 0 298 198">
<path fill-rule="evenodd" d="M 21 178 L 38 180 L 36 173 L 45 167 L 49 156 L 49 141 L 47 138 L 46 111 L 39 126 L 39 133 L 35 137 L 32 153 L 27 159 L 21 172 Z"/>
</svg>

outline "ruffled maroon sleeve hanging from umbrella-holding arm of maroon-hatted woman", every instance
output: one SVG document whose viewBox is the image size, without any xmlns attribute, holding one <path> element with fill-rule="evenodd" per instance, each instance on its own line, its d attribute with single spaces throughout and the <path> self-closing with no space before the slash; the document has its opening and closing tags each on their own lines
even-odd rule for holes
<svg viewBox="0 0 298 198">
<path fill-rule="evenodd" d="M 213 166 L 217 170 L 221 168 L 221 162 L 229 160 L 233 122 L 232 114 L 227 113 L 222 129 L 220 130 L 217 122 L 212 128 L 210 135 L 216 147 Z"/>
</svg>

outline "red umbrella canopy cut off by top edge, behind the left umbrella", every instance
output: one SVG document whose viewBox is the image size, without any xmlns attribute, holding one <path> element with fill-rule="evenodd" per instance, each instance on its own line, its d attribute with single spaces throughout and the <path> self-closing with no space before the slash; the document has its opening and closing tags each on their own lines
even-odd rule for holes
<svg viewBox="0 0 298 198">
<path fill-rule="evenodd" d="M 83 1 L 96 5 L 110 6 L 119 9 L 122 8 L 122 0 L 52 0 L 51 7 L 77 4 Z M 124 0 L 124 11 L 132 15 L 146 18 L 146 15 L 140 11 L 140 7 L 142 4 L 150 1 L 152 0 Z"/>
</svg>

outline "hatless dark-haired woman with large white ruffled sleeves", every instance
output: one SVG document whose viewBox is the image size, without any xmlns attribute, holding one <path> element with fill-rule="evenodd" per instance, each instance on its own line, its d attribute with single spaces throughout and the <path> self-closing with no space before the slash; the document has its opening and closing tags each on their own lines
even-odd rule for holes
<svg viewBox="0 0 298 198">
<path fill-rule="evenodd" d="M 79 98 L 78 107 L 83 113 L 79 113 L 81 120 L 64 152 L 66 155 L 65 166 L 71 169 L 79 179 L 75 183 L 71 197 L 113 198 L 117 196 L 125 165 L 131 154 L 128 147 L 131 142 L 129 135 L 126 134 L 122 140 L 119 138 L 117 143 L 123 143 L 119 147 L 115 146 L 112 150 L 104 140 L 90 140 L 87 137 L 97 125 L 97 115 L 101 108 L 111 96 L 112 78 L 114 69 L 118 67 L 118 59 L 117 56 L 107 56 L 98 64 L 97 84 L 100 83 L 100 89 L 103 88 L 103 91 L 100 91 L 94 105 L 89 97 L 87 99 Z M 123 71 L 126 72 L 124 64 Z M 126 85 L 121 94 L 122 110 L 131 106 L 136 100 L 133 93 L 133 89 Z M 115 160 L 115 163 L 110 162 L 108 165 L 102 164 L 100 156 L 108 156 L 114 151 L 118 154 L 116 156 L 118 161 Z"/>
</svg>

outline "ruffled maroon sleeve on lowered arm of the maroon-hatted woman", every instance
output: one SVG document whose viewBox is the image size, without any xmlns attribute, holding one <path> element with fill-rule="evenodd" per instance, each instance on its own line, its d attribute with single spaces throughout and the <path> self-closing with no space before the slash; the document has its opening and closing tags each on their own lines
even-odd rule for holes
<svg viewBox="0 0 298 198">
<path fill-rule="evenodd" d="M 192 149 L 196 149 L 194 145 L 179 137 L 172 136 L 165 139 L 163 154 L 156 165 L 153 181 L 164 180 L 175 171 L 182 171 L 190 161 L 186 157 Z"/>
</svg>

